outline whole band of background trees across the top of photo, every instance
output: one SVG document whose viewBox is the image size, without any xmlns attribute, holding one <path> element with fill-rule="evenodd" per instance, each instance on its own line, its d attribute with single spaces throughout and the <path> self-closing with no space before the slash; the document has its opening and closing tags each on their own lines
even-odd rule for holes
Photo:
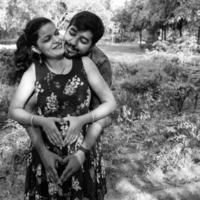
<svg viewBox="0 0 200 200">
<path fill-rule="evenodd" d="M 200 42 L 199 0 L 1 0 L 0 38 L 2 43 L 15 41 L 26 22 L 46 16 L 65 30 L 73 14 L 89 10 L 98 14 L 106 27 L 108 40 L 140 42 L 175 40 L 187 31 Z M 116 7 L 115 5 L 118 5 Z M 147 33 L 146 33 L 147 32 Z M 144 33 L 144 34 L 143 34 Z M 9 39 L 9 41 L 7 41 Z"/>
</svg>

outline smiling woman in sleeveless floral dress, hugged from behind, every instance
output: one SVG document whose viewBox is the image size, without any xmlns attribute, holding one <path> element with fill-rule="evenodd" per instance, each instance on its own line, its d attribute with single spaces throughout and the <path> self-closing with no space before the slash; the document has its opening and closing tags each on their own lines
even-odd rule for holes
<svg viewBox="0 0 200 200">
<path fill-rule="evenodd" d="M 46 147 L 63 160 L 74 152 L 78 159 L 82 159 L 80 155 L 85 149 L 81 144 L 87 124 L 110 114 L 116 103 L 109 87 L 88 57 L 70 60 L 63 55 L 63 41 L 49 19 L 36 18 L 27 24 L 17 41 L 15 60 L 19 69 L 31 66 L 22 76 L 9 113 L 19 123 L 41 127 Z M 90 88 L 102 101 L 93 111 L 89 111 Z M 33 93 L 37 95 L 35 115 L 24 110 Z M 54 145 L 49 135 L 55 135 L 55 139 L 58 136 L 60 145 Z M 55 183 L 45 173 L 38 152 L 32 147 L 28 159 L 25 199 L 95 199 L 95 193 L 103 199 L 104 187 L 98 187 L 103 179 L 95 174 L 99 170 L 104 173 L 98 160 L 99 148 L 87 154 L 82 168 L 70 179 Z M 57 164 L 61 179 L 65 169 L 62 159 Z"/>
</svg>

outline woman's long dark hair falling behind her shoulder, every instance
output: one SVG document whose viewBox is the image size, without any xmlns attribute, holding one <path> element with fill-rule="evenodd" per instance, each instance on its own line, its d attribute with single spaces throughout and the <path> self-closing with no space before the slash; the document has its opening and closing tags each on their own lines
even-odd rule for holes
<svg viewBox="0 0 200 200">
<path fill-rule="evenodd" d="M 31 48 L 37 46 L 38 31 L 47 23 L 52 23 L 52 21 L 45 17 L 34 18 L 27 23 L 23 33 L 19 36 L 16 43 L 17 50 L 14 53 L 15 81 L 21 78 L 31 63 L 38 61 L 39 55 L 34 53 Z"/>
</svg>

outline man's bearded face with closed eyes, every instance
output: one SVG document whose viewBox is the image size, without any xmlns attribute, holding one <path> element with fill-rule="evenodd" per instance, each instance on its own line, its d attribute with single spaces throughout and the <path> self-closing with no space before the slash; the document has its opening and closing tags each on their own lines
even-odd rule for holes
<svg viewBox="0 0 200 200">
<path fill-rule="evenodd" d="M 69 26 L 64 35 L 66 57 L 88 54 L 92 48 L 92 36 L 91 31 L 78 31 L 75 26 Z"/>
</svg>

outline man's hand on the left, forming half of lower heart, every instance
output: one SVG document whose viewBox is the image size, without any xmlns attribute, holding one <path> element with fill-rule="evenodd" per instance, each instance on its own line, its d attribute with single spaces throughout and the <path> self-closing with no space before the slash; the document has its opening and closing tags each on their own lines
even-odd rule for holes
<svg viewBox="0 0 200 200">
<path fill-rule="evenodd" d="M 47 176 L 49 176 L 49 178 L 52 179 L 53 182 L 59 184 L 60 183 L 59 176 L 58 176 L 56 168 L 57 168 L 58 162 L 62 163 L 63 159 L 60 156 L 58 156 L 57 154 L 49 151 L 46 148 L 45 148 L 45 150 L 40 152 L 40 158 L 45 167 Z"/>
</svg>

